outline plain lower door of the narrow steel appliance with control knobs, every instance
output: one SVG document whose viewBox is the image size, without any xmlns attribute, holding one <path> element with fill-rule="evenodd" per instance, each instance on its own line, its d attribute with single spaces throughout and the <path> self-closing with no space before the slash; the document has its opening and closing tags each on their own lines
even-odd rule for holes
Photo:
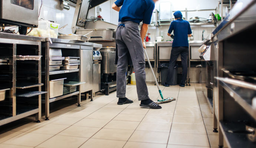
<svg viewBox="0 0 256 148">
<path fill-rule="evenodd" d="M 92 92 L 101 90 L 101 64 L 93 63 L 93 88 Z"/>
</svg>

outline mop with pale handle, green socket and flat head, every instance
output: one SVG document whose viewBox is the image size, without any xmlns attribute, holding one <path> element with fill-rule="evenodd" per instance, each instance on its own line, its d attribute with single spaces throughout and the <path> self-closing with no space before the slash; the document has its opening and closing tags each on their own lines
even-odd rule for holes
<svg viewBox="0 0 256 148">
<path fill-rule="evenodd" d="M 145 48 L 143 48 L 143 49 L 144 49 L 144 53 L 145 53 L 145 55 L 146 55 L 146 57 L 147 57 L 148 64 L 150 65 L 151 72 L 152 72 L 152 74 L 154 75 L 154 78 L 155 78 L 155 84 L 157 85 L 158 91 L 159 91 L 160 96 L 161 96 L 161 98 L 162 98 L 162 100 L 154 101 L 154 102 L 155 102 L 155 104 L 162 104 L 162 103 L 167 103 L 167 102 L 171 102 L 171 101 L 176 100 L 175 98 L 166 98 L 166 99 L 164 99 L 163 94 L 162 94 L 162 92 L 161 92 L 161 90 L 160 90 L 160 87 L 159 87 L 159 85 L 158 85 L 157 78 L 155 77 L 154 70 L 153 70 L 153 68 L 152 68 L 152 66 L 151 66 L 151 63 L 150 63 L 150 60 L 149 60 L 149 58 L 148 58 L 147 51 L 146 51 L 146 49 L 145 49 Z"/>
</svg>

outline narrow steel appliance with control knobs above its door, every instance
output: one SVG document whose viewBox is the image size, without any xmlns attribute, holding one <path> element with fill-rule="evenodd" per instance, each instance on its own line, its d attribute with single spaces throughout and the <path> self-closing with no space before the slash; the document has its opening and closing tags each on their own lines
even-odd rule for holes
<svg viewBox="0 0 256 148">
<path fill-rule="evenodd" d="M 102 46 L 101 46 L 102 47 Z M 93 47 L 93 88 L 92 92 L 98 92 L 101 90 L 101 62 L 102 55 L 99 51 L 100 48 Z"/>
</svg>

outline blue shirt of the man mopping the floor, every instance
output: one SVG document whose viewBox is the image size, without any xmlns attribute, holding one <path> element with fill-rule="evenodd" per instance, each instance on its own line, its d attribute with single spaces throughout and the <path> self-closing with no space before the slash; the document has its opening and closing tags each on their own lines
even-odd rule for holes
<svg viewBox="0 0 256 148">
<path fill-rule="evenodd" d="M 119 11 L 118 21 L 133 21 L 140 24 L 150 24 L 155 3 L 152 0 L 117 0 L 117 7 L 121 7 Z"/>
</svg>

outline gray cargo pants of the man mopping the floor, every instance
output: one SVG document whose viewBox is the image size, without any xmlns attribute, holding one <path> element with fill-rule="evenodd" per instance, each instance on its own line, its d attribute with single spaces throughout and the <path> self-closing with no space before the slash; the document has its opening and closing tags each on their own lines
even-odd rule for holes
<svg viewBox="0 0 256 148">
<path fill-rule="evenodd" d="M 119 24 L 125 24 L 125 27 L 119 26 Z M 131 56 L 138 100 L 146 100 L 149 97 L 146 85 L 144 51 L 138 24 L 132 21 L 119 22 L 119 24 L 116 29 L 116 97 L 125 97 L 126 72 Z"/>
</svg>

